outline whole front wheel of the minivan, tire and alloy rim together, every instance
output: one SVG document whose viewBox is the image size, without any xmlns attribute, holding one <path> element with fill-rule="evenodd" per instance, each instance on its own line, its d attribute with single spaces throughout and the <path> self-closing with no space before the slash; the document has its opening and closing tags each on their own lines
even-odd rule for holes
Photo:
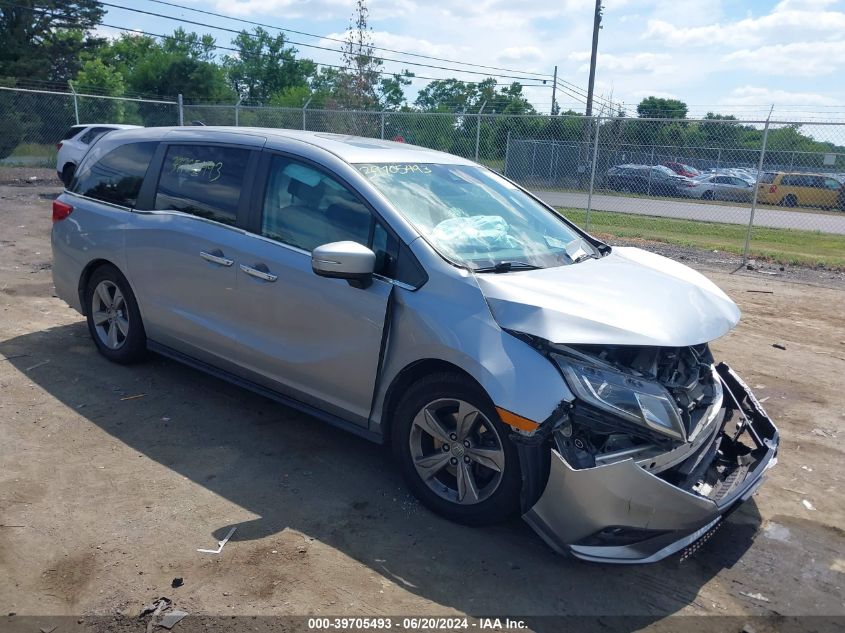
<svg viewBox="0 0 845 633">
<path fill-rule="evenodd" d="M 519 507 L 521 474 L 509 428 L 487 394 L 459 374 L 415 383 L 396 409 L 393 452 L 408 486 L 434 512 L 489 525 Z"/>
</svg>

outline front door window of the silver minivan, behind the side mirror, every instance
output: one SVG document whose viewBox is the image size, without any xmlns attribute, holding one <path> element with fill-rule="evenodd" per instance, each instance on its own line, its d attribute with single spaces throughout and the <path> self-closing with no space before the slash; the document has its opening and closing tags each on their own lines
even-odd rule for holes
<svg viewBox="0 0 845 633">
<path fill-rule="evenodd" d="M 358 196 L 325 172 L 283 156 L 270 163 L 261 234 L 306 251 L 352 241 L 376 254 L 376 272 L 392 276 L 398 243 Z"/>
</svg>

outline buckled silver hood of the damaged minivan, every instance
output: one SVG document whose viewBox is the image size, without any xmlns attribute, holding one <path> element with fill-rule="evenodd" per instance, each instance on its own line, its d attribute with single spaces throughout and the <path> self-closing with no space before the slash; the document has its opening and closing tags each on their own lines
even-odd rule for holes
<svg viewBox="0 0 845 633">
<path fill-rule="evenodd" d="M 501 327 L 552 343 L 685 347 L 719 338 L 740 316 L 704 275 L 639 248 L 475 278 Z"/>
</svg>

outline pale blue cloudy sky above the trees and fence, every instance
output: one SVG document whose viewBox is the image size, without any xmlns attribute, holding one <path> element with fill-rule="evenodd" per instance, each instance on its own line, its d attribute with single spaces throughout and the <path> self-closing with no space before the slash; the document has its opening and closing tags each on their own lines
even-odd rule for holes
<svg viewBox="0 0 845 633">
<path fill-rule="evenodd" d="M 148 0 L 110 1 L 239 28 Z M 173 1 L 333 37 L 343 37 L 354 7 L 353 0 Z M 371 0 L 368 6 L 376 45 L 528 72 L 551 73 L 557 64 L 563 80 L 586 87 L 594 0 Z M 774 104 L 782 119 L 794 113 L 845 120 L 845 0 L 606 0 L 604 15 L 597 92 L 624 102 L 629 112 L 653 94 L 685 101 L 691 115 L 718 111 L 759 118 Z M 156 33 L 178 26 L 114 8 L 105 21 Z M 212 33 L 222 45 L 232 38 L 213 28 L 185 28 Z M 300 47 L 300 53 L 340 63 L 340 55 L 332 52 Z M 481 78 L 385 63 L 390 71 L 402 67 L 427 77 Z M 415 81 L 409 97 L 425 83 Z M 526 88 L 526 94 L 535 107 L 548 111 L 549 87 Z M 583 109 L 581 97 L 559 92 L 558 101 L 564 108 Z"/>
</svg>

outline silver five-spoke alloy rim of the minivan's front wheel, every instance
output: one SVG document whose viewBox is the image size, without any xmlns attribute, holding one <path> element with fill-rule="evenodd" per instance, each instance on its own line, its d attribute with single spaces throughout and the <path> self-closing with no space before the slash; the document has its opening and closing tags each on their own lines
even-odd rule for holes
<svg viewBox="0 0 845 633">
<path fill-rule="evenodd" d="M 464 400 L 441 398 L 425 405 L 408 439 L 417 474 L 448 501 L 481 503 L 502 482 L 502 439 L 487 417 Z"/>
</svg>

